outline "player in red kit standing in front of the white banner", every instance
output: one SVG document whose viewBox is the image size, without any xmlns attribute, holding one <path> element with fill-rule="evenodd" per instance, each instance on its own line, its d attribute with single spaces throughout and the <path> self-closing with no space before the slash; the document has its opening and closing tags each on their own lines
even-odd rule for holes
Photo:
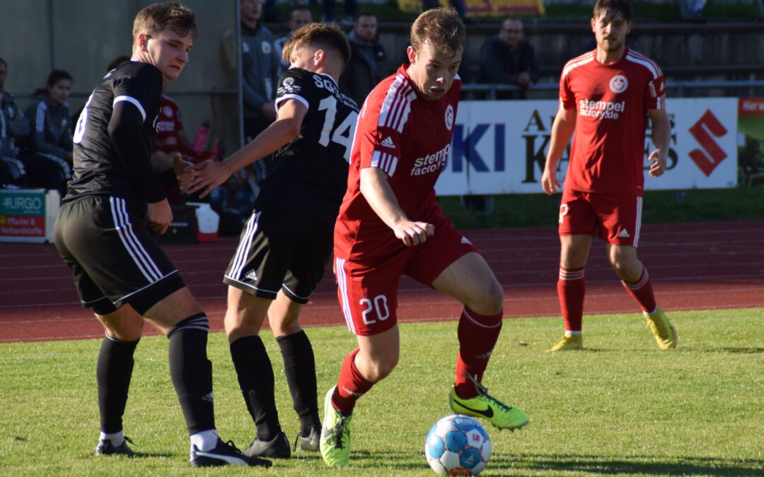
<svg viewBox="0 0 764 477">
<path fill-rule="evenodd" d="M 560 188 L 557 163 L 574 132 L 575 137 L 559 218 L 557 292 L 565 336 L 552 351 L 583 349 L 584 267 L 594 236 L 605 241 L 610 265 L 642 308 L 658 346 L 668 350 L 677 343 L 674 327 L 656 305 L 647 269 L 636 257 L 647 118 L 656 144 L 648 158 L 650 176 L 665 171 L 671 128 L 665 78 L 654 61 L 626 47 L 631 27 L 628 0 L 597 0 L 591 19 L 597 48 L 568 61 L 560 78 L 560 108 L 542 176 L 547 194 Z"/>
</svg>

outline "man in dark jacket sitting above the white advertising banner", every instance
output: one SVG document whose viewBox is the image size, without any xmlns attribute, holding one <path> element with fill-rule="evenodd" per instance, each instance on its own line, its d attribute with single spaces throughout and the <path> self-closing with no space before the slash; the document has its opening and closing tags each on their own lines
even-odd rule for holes
<svg viewBox="0 0 764 477">
<path fill-rule="evenodd" d="M 523 23 L 508 18 L 499 34 L 490 37 L 480 53 L 484 82 L 520 86 L 521 91 L 498 92 L 498 99 L 525 99 L 533 83 L 539 81 L 539 66 L 533 46 L 523 41 Z"/>
</svg>

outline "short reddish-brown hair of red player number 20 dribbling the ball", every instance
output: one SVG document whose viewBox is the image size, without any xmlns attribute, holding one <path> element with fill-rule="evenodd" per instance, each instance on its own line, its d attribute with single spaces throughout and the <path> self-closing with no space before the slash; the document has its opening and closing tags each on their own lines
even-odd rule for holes
<svg viewBox="0 0 764 477">
<path fill-rule="evenodd" d="M 411 26 L 411 46 L 418 52 L 425 43 L 439 54 L 455 55 L 465 50 L 467 31 L 453 8 L 433 8 L 416 18 Z"/>
</svg>

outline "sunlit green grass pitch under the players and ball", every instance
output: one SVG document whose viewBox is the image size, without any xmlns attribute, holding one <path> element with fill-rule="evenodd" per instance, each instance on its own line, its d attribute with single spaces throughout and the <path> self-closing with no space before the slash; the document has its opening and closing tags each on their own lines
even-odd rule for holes
<svg viewBox="0 0 764 477">
<path fill-rule="evenodd" d="M 493 455 L 482 475 L 762 475 L 764 308 L 670 315 L 679 348 L 656 349 L 639 314 L 586 317 L 584 346 L 547 353 L 558 318 L 504 323 L 484 383 L 531 417 L 515 433 L 486 426 Z M 450 414 L 447 395 L 456 323 L 403 324 L 400 364 L 359 401 L 351 466 L 344 475 L 434 475 L 424 437 Z M 345 353 L 345 327 L 308 330 L 318 365 L 319 403 Z M 264 342 L 277 375 L 277 404 L 290 440 L 298 423 L 277 344 Z M 193 470 L 167 372 L 167 340 L 138 346 L 125 429 L 135 459 L 92 455 L 98 437 L 95 356 L 99 340 L 0 345 L 0 475 L 239 475 Z M 221 333 L 210 335 L 217 424 L 240 448 L 254 437 Z M 276 460 L 272 475 L 336 475 L 317 453 Z"/>
</svg>

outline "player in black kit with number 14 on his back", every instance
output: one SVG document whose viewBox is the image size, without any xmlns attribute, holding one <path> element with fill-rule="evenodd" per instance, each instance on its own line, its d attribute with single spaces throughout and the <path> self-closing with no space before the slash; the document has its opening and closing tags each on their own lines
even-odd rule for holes
<svg viewBox="0 0 764 477">
<path fill-rule="evenodd" d="M 223 279 L 229 285 L 225 331 L 231 358 L 257 427 L 257 437 L 244 450 L 248 456 L 290 456 L 273 369 L 258 336 L 266 314 L 299 416 L 295 446 L 319 448 L 316 363 L 298 318 L 332 256 L 334 223 L 347 188 L 358 105 L 339 91 L 337 81 L 349 58 L 348 38 L 337 25 L 297 30 L 283 47 L 291 66 L 279 81 L 277 120 L 222 163 L 196 165 L 187 181 L 181 176 L 182 188 L 204 196 L 231 173 L 274 153 Z"/>
</svg>

